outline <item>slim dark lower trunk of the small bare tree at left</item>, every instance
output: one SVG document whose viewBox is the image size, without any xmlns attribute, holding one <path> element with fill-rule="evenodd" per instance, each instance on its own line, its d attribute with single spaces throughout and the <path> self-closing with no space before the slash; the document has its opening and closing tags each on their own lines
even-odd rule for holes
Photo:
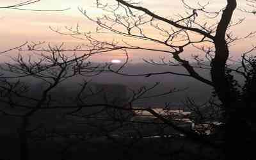
<svg viewBox="0 0 256 160">
<path fill-rule="evenodd" d="M 29 159 L 28 151 L 28 132 L 26 131 L 28 127 L 28 117 L 22 117 L 19 131 L 19 140 L 20 140 L 20 160 Z"/>
</svg>

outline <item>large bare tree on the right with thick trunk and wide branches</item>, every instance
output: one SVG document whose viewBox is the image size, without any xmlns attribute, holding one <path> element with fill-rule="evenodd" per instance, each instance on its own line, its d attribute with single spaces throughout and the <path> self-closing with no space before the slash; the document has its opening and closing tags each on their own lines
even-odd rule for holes
<svg viewBox="0 0 256 160">
<path fill-rule="evenodd" d="M 80 11 L 86 18 L 95 22 L 98 26 L 95 31 L 80 31 L 77 28 L 67 28 L 68 33 L 54 30 L 63 35 L 71 35 L 75 38 L 88 40 L 94 47 L 104 46 L 106 49 L 115 50 L 144 50 L 167 53 L 173 57 L 175 61 L 165 60 L 164 58 L 158 63 L 154 60 L 145 60 L 152 65 L 167 65 L 171 67 L 182 66 L 186 69 L 186 73 L 180 72 L 158 72 L 145 74 L 127 74 L 122 72 L 122 68 L 117 70 L 109 67 L 111 72 L 126 76 L 154 76 L 159 74 L 174 74 L 177 76 L 193 77 L 198 81 L 212 86 L 214 95 L 218 97 L 219 102 L 207 105 L 207 108 L 218 106 L 222 115 L 221 122 L 225 125 L 225 143 L 221 145 L 226 159 L 251 159 L 253 150 L 248 143 L 255 143 L 253 134 L 255 133 L 255 122 L 253 120 L 255 100 L 253 93 L 255 92 L 255 56 L 253 52 L 255 47 L 250 51 L 241 55 L 241 60 L 234 61 L 229 58 L 230 45 L 238 40 L 250 38 L 254 32 L 248 33 L 243 37 L 237 37 L 232 34 L 232 27 L 241 24 L 243 19 L 234 22 L 232 20 L 233 13 L 237 8 L 237 1 L 227 0 L 224 8 L 220 8 L 216 12 L 209 12 L 209 3 L 191 6 L 186 1 L 182 1 L 188 12 L 186 15 L 178 17 L 166 18 L 157 13 L 152 12 L 148 8 L 133 3 L 131 1 L 116 0 L 108 4 L 97 1 L 97 7 L 102 8 L 106 15 L 93 19 L 82 8 Z M 248 5 L 253 6 L 254 1 L 248 1 Z M 254 13 L 253 11 L 251 13 Z M 204 19 L 204 20 L 203 20 Z M 210 19 L 210 20 L 209 20 Z M 214 22 L 212 22 L 214 20 Z M 145 27 L 150 26 L 152 31 L 160 33 L 159 36 L 150 36 Z M 194 36 L 196 34 L 196 36 Z M 97 35 L 116 35 L 116 37 L 124 36 L 127 40 L 112 42 L 100 40 Z M 132 44 L 129 39 L 144 40 L 154 42 L 156 45 L 164 46 L 166 49 L 158 49 L 157 47 L 144 47 Z M 207 45 L 205 45 L 207 44 Z M 196 63 L 182 58 L 181 54 L 186 47 L 193 46 L 204 52 L 205 58 L 194 56 Z M 234 68 L 228 65 L 228 62 L 235 62 Z M 127 61 L 126 61 L 127 63 Z M 125 65 L 125 64 L 124 64 Z M 209 70 L 211 77 L 203 77 L 197 71 Z M 239 82 L 234 78 L 235 74 L 244 77 L 244 82 Z M 191 103 L 191 101 L 189 102 Z M 193 104 L 195 105 L 195 104 Z M 153 115 L 159 116 L 157 113 L 150 111 Z M 172 120 L 161 118 L 166 124 L 172 125 Z M 175 126 L 175 125 L 173 125 Z M 180 128 L 177 128 L 180 130 Z M 195 138 L 195 134 L 182 131 L 188 137 Z M 198 140 L 201 138 L 198 138 Z M 234 141 L 236 144 L 234 145 Z"/>
</svg>

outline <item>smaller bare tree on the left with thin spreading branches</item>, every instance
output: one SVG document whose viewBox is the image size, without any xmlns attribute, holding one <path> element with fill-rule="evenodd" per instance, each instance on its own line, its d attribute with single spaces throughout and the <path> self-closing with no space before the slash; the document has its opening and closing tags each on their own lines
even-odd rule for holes
<svg viewBox="0 0 256 160">
<path fill-rule="evenodd" d="M 83 70 L 82 75 L 84 77 L 92 77 L 99 74 L 100 70 L 104 68 L 104 65 L 95 65 L 88 61 L 88 58 L 93 54 L 98 54 L 99 50 L 84 49 L 84 53 L 77 56 L 74 54 L 76 47 L 69 50 L 62 49 L 62 44 L 55 47 L 48 45 L 48 49 L 42 49 L 39 47 L 42 44 L 42 42 L 29 44 L 25 50 L 20 48 L 20 51 L 27 52 L 35 52 L 40 49 L 41 53 L 36 55 L 36 60 L 33 60 L 32 56 L 19 54 L 12 59 L 12 62 L 1 65 L 0 112 L 2 116 L 19 118 L 20 159 L 24 160 L 29 159 L 29 135 L 36 132 L 41 126 L 40 120 L 35 120 L 38 124 L 33 123 L 33 117 L 36 114 L 40 116 L 42 111 L 49 109 L 80 108 L 77 106 L 68 107 L 68 105 L 70 102 L 76 103 L 81 92 L 86 89 L 87 83 L 81 83 L 82 87 L 78 88 L 74 95 L 66 96 L 66 100 L 63 100 L 64 95 L 56 92 L 61 84 L 67 79 L 82 74 L 81 70 Z M 73 53 L 71 56 L 67 56 L 63 52 Z M 35 88 L 38 87 L 33 84 L 36 81 L 42 83 L 41 88 L 40 86 Z M 86 99 L 86 97 L 94 94 L 96 93 L 91 92 L 90 95 L 83 96 L 83 98 Z M 68 101 L 68 99 L 70 100 Z M 84 105 L 86 106 L 86 104 Z M 97 105 L 91 104 L 91 106 Z M 51 113 L 51 111 L 49 112 Z"/>
</svg>

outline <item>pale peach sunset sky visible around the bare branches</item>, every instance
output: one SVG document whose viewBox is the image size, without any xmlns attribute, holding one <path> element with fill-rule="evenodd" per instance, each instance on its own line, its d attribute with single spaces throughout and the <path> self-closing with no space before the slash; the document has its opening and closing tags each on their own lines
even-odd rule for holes
<svg viewBox="0 0 256 160">
<path fill-rule="evenodd" d="M 10 4 L 20 3 L 21 0 L 1 0 L 0 6 L 6 6 Z M 113 3 L 113 0 L 103 0 L 109 4 Z M 202 0 L 203 1 L 203 0 Z M 180 3 L 180 0 L 174 0 L 170 3 L 170 0 L 147 0 L 141 1 L 143 6 L 146 6 L 148 9 L 154 11 L 163 16 L 173 16 L 177 13 L 184 13 L 184 7 Z M 218 10 L 221 7 L 225 6 L 225 1 L 223 0 L 214 0 L 209 6 L 209 10 Z M 194 4 L 195 1 L 188 0 L 189 4 Z M 239 1 L 238 8 L 246 8 L 245 1 Z M 83 28 L 83 31 L 89 31 L 96 27 L 93 22 L 87 20 L 80 12 L 77 10 L 77 7 L 81 7 L 88 12 L 92 17 L 97 17 L 102 15 L 102 11 L 99 8 L 95 7 L 95 1 L 93 0 L 42 0 L 39 3 L 35 3 L 26 8 L 35 9 L 35 10 L 61 10 L 65 8 L 70 8 L 70 10 L 63 12 L 30 12 L 30 11 L 20 11 L 20 10 L 6 10 L 0 9 L 0 51 L 4 51 L 10 47 L 15 47 L 22 44 L 23 42 L 38 42 L 45 41 L 52 44 L 61 44 L 65 42 L 68 46 L 83 44 L 82 40 L 77 40 L 70 36 L 59 35 L 54 33 L 49 26 L 52 28 L 63 29 L 65 26 L 76 26 L 79 23 L 79 26 Z M 167 14 L 168 13 L 168 14 Z M 246 33 L 255 31 L 255 22 L 256 16 L 249 13 L 243 13 L 239 10 L 235 12 L 234 19 L 246 18 L 243 24 L 236 26 L 232 31 L 234 35 L 243 36 Z M 158 35 L 157 32 L 148 30 L 148 33 L 152 36 Z M 114 37 L 101 37 L 103 39 L 110 40 Z M 125 38 L 124 38 L 125 39 Z M 230 47 L 231 56 L 239 58 L 241 52 L 247 51 L 252 47 L 253 44 L 256 44 L 255 38 L 248 40 L 242 40 L 237 42 L 234 46 Z M 150 47 L 159 47 L 158 45 L 148 43 L 145 41 L 138 41 L 136 45 L 145 45 Z M 185 58 L 191 56 L 191 54 L 196 54 L 195 49 L 188 48 L 186 52 L 182 54 Z M 8 52 L 1 55 L 1 61 L 7 61 L 9 56 L 15 56 L 17 51 Z M 159 52 L 145 52 L 145 51 L 129 51 L 132 61 L 140 62 L 142 58 L 146 59 L 157 59 L 160 56 L 168 56 Z M 95 61 L 111 61 L 113 59 L 122 60 L 124 56 L 118 52 L 112 52 L 109 54 L 95 56 Z"/>
</svg>

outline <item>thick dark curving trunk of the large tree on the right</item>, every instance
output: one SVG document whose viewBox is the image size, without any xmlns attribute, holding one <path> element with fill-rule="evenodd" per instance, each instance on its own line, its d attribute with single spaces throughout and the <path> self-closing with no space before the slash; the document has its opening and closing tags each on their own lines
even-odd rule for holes
<svg viewBox="0 0 256 160">
<path fill-rule="evenodd" d="M 214 38 L 216 54 L 212 60 L 211 76 L 214 90 L 223 103 L 223 109 L 225 109 L 225 159 L 249 160 L 252 159 L 253 154 L 247 140 L 252 138 L 252 134 L 250 134 L 250 128 L 244 121 L 246 118 L 244 113 L 246 112 L 243 110 L 246 108 L 246 104 L 232 90 L 232 83 L 225 73 L 225 65 L 229 55 L 225 36 L 235 9 L 236 1 L 227 0 L 227 7 L 223 10 Z"/>
</svg>

